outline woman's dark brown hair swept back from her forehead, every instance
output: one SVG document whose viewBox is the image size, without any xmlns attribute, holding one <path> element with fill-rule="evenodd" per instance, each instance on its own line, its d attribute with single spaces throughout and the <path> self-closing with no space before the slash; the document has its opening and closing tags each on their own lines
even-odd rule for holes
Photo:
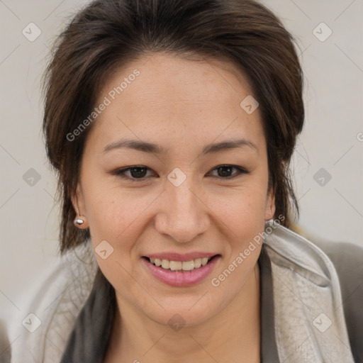
<svg viewBox="0 0 363 363">
<path fill-rule="evenodd" d="M 247 75 L 262 113 L 275 216 L 291 227 L 289 213 L 291 207 L 298 213 L 298 204 L 289 162 L 303 127 L 303 76 L 279 19 L 253 0 L 99 0 L 57 38 L 43 79 L 43 132 L 62 203 L 60 251 L 89 238 L 88 229 L 73 225 L 71 196 L 91 125 L 72 142 L 67 134 L 89 116 L 112 69 L 152 52 L 228 59 Z"/>
</svg>

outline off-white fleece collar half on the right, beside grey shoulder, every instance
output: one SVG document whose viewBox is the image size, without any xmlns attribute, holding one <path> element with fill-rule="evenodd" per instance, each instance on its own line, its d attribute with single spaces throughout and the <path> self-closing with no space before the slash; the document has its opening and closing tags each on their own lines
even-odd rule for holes
<svg viewBox="0 0 363 363">
<path fill-rule="evenodd" d="M 333 262 L 281 225 L 264 243 L 272 266 L 280 362 L 354 363 Z"/>
</svg>

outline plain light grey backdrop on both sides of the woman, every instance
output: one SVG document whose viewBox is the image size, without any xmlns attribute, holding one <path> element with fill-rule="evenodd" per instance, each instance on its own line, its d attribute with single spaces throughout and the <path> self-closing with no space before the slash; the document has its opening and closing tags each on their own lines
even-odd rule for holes
<svg viewBox="0 0 363 363">
<path fill-rule="evenodd" d="M 57 254 L 59 214 L 40 132 L 40 78 L 52 40 L 85 3 L 0 0 L 0 305 L 6 308 L 21 306 L 18 293 Z M 363 245 L 363 1 L 263 3 L 298 39 L 306 75 L 306 124 L 291 164 L 299 223 L 316 235 Z M 30 22 L 42 32 L 33 42 L 22 34 Z M 313 34 L 315 28 L 320 38 L 328 34 L 322 22 L 333 32 L 323 42 Z M 33 186 L 23 180 L 30 168 L 40 174 Z M 320 168 L 332 177 L 324 186 L 313 178 Z"/>
</svg>

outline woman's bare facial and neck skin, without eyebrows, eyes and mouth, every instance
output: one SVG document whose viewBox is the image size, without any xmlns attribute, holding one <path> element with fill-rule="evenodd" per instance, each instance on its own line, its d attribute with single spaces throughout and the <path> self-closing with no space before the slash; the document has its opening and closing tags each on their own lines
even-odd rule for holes
<svg viewBox="0 0 363 363">
<path fill-rule="evenodd" d="M 235 65 L 145 55 L 106 79 L 99 103 L 134 69 L 140 71 L 94 121 L 86 139 L 74 208 L 89 228 L 93 247 L 106 240 L 107 259 L 95 253 L 116 290 L 118 311 L 104 362 L 259 362 L 259 267 L 261 245 L 220 286 L 211 284 L 273 218 L 267 189 L 267 144 L 259 108 L 247 114 L 240 102 L 252 91 Z M 97 104 L 99 104 L 97 103 Z M 132 149 L 102 150 L 121 138 L 167 147 L 157 155 Z M 243 138 L 242 146 L 201 155 L 205 145 Z M 218 165 L 232 169 L 233 179 Z M 129 172 L 145 166 L 144 181 Z M 185 181 L 167 176 L 178 167 Z M 154 176 L 154 177 L 152 177 Z M 224 179 L 223 179 L 224 178 Z M 216 252 L 212 273 L 195 286 L 158 281 L 141 259 L 150 253 Z M 168 321 L 179 314 L 184 326 Z M 122 317 L 122 324 L 121 324 Z"/>
</svg>

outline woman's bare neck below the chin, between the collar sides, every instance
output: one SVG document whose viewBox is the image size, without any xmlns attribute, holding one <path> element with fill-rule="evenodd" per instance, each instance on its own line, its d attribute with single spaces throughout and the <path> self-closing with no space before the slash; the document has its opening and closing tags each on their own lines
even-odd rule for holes
<svg viewBox="0 0 363 363">
<path fill-rule="evenodd" d="M 205 322 L 174 331 L 118 304 L 104 363 L 259 362 L 259 266 L 223 311 Z M 123 311 L 122 324 L 120 311 Z"/>
</svg>

